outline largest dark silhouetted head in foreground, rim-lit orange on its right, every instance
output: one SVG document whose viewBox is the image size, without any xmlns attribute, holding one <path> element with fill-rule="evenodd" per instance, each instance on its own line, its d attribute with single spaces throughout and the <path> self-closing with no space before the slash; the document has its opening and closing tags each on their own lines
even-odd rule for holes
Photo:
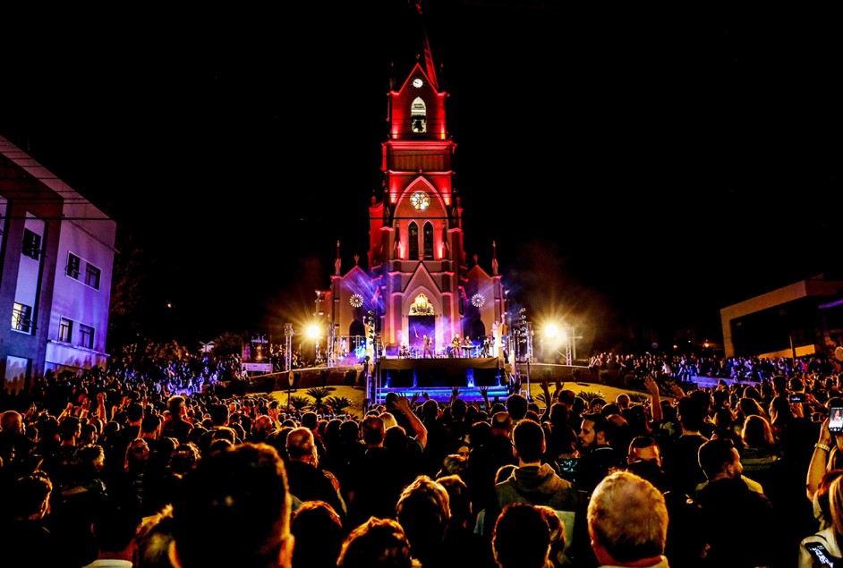
<svg viewBox="0 0 843 568">
<path fill-rule="evenodd" d="M 180 568 L 290 568 L 291 496 L 275 448 L 245 442 L 202 457 L 173 504 Z M 225 538 L 209 538 L 209 528 Z"/>
</svg>

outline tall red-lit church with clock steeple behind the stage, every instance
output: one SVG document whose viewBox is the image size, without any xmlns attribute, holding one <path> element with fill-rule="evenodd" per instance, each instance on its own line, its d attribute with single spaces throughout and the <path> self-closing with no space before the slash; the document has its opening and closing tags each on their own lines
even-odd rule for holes
<svg viewBox="0 0 843 568">
<path fill-rule="evenodd" d="M 368 271 L 342 274 L 340 243 L 329 290 L 317 291 L 328 325 L 328 360 L 358 359 L 363 351 L 423 356 L 432 338 L 438 357 L 451 355 L 455 336 L 471 338 L 480 356 L 484 338 L 497 357 L 506 333 L 507 301 L 495 243 L 490 272 L 468 268 L 463 246 L 463 208 L 453 187 L 456 143 L 447 131 L 445 89 L 424 41 L 424 57 L 397 89 L 387 93 L 387 140 L 380 168 L 384 191 L 369 207 Z"/>
</svg>

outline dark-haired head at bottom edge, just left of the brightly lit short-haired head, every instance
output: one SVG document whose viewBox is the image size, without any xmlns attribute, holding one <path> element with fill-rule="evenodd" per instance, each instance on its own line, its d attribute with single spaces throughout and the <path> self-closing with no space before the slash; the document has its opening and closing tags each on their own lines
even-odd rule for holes
<svg viewBox="0 0 843 568">
<path fill-rule="evenodd" d="M 549 568 L 550 527 L 532 504 L 507 504 L 495 521 L 492 553 L 499 568 Z"/>
</svg>

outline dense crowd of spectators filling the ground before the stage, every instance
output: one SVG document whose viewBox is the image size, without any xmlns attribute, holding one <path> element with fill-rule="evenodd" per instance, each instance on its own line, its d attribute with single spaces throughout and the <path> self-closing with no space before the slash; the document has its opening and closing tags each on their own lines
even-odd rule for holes
<svg viewBox="0 0 843 568">
<path fill-rule="evenodd" d="M 231 394 L 218 377 L 235 365 L 207 355 L 44 377 L 0 403 L 0 558 L 55 568 L 840 561 L 843 433 L 829 419 L 843 407 L 843 375 L 816 357 L 771 360 L 769 377 L 713 388 L 660 381 L 677 377 L 675 362 L 592 361 L 647 369 L 642 396 L 586 400 L 544 383 L 541 404 L 517 393 L 477 403 L 455 388 L 447 403 L 390 393 L 361 417 Z M 201 388 L 185 392 L 184 376 L 203 377 Z"/>
</svg>

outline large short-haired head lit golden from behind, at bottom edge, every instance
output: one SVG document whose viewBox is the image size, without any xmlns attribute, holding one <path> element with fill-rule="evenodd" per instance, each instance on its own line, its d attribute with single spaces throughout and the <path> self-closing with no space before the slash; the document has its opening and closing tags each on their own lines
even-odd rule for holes
<svg viewBox="0 0 843 568">
<path fill-rule="evenodd" d="M 600 566 L 668 567 L 667 505 L 646 479 L 629 471 L 610 473 L 594 488 L 587 515 Z"/>
</svg>

